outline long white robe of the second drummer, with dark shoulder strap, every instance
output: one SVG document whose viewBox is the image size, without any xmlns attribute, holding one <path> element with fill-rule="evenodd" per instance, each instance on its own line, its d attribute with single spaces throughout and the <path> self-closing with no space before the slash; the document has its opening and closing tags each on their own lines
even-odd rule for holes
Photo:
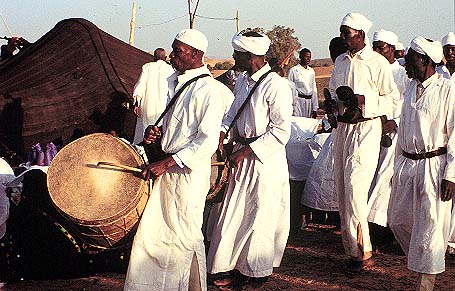
<svg viewBox="0 0 455 291">
<path fill-rule="evenodd" d="M 270 70 L 267 64 L 251 77 L 240 75 L 227 129 L 252 87 Z M 257 87 L 233 129 L 234 137 L 259 137 L 253 154 L 229 178 L 221 215 L 207 257 L 210 273 L 234 268 L 251 277 L 272 274 L 280 265 L 289 234 L 289 175 L 285 145 L 291 131 L 292 97 L 287 81 L 270 73 Z M 237 144 L 234 148 L 242 147 Z"/>
</svg>

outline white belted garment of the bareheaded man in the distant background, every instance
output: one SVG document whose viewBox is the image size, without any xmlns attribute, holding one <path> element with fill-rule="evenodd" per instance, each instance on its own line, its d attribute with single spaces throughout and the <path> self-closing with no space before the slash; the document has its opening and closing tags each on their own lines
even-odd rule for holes
<svg viewBox="0 0 455 291">
<path fill-rule="evenodd" d="M 295 84 L 298 93 L 312 96 L 311 99 L 294 97 L 293 115 L 311 117 L 311 113 L 319 108 L 316 74 L 313 68 L 310 66 L 304 68 L 302 65 L 297 64 L 289 69 L 287 78 Z"/>
</svg>

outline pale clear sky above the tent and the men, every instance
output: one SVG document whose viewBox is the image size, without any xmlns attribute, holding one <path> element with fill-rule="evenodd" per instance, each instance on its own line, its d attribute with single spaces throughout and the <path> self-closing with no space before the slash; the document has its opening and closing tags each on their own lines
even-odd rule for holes
<svg viewBox="0 0 455 291">
<path fill-rule="evenodd" d="M 186 0 L 136 0 L 134 45 L 144 51 L 163 47 L 170 51 L 175 35 L 189 27 Z M 197 0 L 192 0 L 192 5 Z M 229 58 L 231 38 L 240 29 L 283 25 L 295 30 L 313 59 L 327 58 L 328 43 L 339 34 L 341 19 L 348 12 L 364 14 L 373 22 L 368 36 L 379 29 L 394 31 L 409 45 L 422 35 L 433 40 L 454 31 L 455 0 L 200 0 L 194 28 L 209 40 L 207 56 Z M 0 0 L 0 36 L 22 36 L 38 40 L 60 20 L 85 18 L 103 31 L 129 41 L 133 0 Z M 203 18 L 204 17 L 204 18 Z M 207 19 L 217 18 L 217 19 Z M 222 19 L 222 20 L 219 20 Z M 7 28 L 9 27 L 9 29 Z M 0 40 L 0 44 L 4 41 Z"/>
</svg>

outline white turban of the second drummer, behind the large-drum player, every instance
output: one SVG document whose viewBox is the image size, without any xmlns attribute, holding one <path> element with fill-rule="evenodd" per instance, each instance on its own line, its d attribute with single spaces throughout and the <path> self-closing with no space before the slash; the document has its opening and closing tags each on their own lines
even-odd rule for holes
<svg viewBox="0 0 455 291">
<path fill-rule="evenodd" d="M 242 32 L 236 33 L 232 38 L 232 47 L 239 52 L 250 52 L 257 56 L 263 56 L 270 47 L 270 38 L 260 33 L 261 36 L 243 36 Z"/>
</svg>

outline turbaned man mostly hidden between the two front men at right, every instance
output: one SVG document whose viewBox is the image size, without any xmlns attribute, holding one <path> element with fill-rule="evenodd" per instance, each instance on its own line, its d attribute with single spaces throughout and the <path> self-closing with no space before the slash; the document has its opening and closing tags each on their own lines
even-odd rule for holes
<svg viewBox="0 0 455 291">
<path fill-rule="evenodd" d="M 410 82 L 406 75 L 406 70 L 395 59 L 395 46 L 397 43 L 398 36 L 392 31 L 381 29 L 373 34 L 373 50 L 385 57 L 390 63 L 393 79 L 400 92 L 399 99 L 394 104 L 393 119 L 384 124 L 384 130 L 388 131 L 387 136 L 390 137 L 391 144 L 388 147 L 381 145 L 378 167 L 371 184 L 368 199 L 368 208 L 370 209 L 368 221 L 383 227 L 387 226 L 387 207 L 389 205 L 390 192 L 392 191 L 391 180 L 397 142 L 397 125 L 400 123 L 399 117 L 403 105 L 404 92 Z M 380 235 L 383 234 L 381 233 Z"/>
</svg>

